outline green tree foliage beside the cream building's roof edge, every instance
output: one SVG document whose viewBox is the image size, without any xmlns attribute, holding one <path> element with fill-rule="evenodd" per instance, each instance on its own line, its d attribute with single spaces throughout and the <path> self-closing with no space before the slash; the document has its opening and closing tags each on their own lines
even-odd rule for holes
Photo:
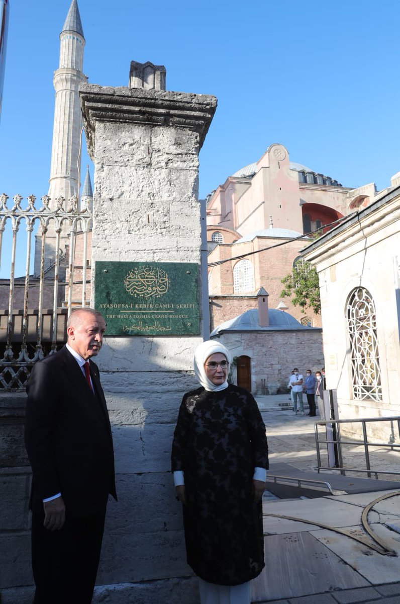
<svg viewBox="0 0 400 604">
<path fill-rule="evenodd" d="M 282 283 L 285 286 L 281 292 L 282 298 L 291 298 L 294 306 L 302 307 L 303 313 L 306 308 L 312 308 L 316 315 L 320 314 L 319 279 L 314 265 L 300 259 L 292 272 L 282 279 Z"/>
</svg>

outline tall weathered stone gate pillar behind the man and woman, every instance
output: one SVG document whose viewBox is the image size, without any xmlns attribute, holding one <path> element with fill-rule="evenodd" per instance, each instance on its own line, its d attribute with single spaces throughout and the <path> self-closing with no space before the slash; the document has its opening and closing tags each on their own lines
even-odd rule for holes
<svg viewBox="0 0 400 604">
<path fill-rule="evenodd" d="M 80 96 L 95 165 L 92 267 L 196 263 L 201 307 L 198 152 L 216 99 L 87 84 Z M 200 334 L 105 338 L 98 361 L 119 502 L 109 504 L 97 597 L 119 584 L 112 602 L 197 602 L 197 582 L 183 579 L 192 573 L 170 452 L 180 400 L 195 387 L 192 358 L 201 341 Z"/>
</svg>

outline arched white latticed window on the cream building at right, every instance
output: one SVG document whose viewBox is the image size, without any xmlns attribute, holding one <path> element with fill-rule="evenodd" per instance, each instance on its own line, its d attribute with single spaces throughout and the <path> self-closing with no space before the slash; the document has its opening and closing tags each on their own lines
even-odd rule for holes
<svg viewBox="0 0 400 604">
<path fill-rule="evenodd" d="M 351 293 L 347 320 L 353 397 L 382 400 L 375 304 L 367 289 L 357 288 Z"/>
</svg>

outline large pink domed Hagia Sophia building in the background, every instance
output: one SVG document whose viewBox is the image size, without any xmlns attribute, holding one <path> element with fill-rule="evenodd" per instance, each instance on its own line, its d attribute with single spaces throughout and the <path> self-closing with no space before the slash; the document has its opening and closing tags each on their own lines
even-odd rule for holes
<svg viewBox="0 0 400 604">
<path fill-rule="evenodd" d="M 278 307 L 281 279 L 308 242 L 305 236 L 366 207 L 375 193 L 374 184 L 342 187 L 290 162 L 281 144 L 272 144 L 257 162 L 229 176 L 206 200 L 211 329 L 255 307 L 262 285 L 270 307 Z M 283 302 L 303 324 L 320 326 L 318 315 L 304 315 L 288 298 Z"/>
</svg>

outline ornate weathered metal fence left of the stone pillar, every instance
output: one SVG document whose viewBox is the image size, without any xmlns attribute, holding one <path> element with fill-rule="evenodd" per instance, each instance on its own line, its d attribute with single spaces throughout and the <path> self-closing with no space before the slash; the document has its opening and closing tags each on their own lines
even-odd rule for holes
<svg viewBox="0 0 400 604">
<path fill-rule="evenodd" d="M 3 332 L 4 335 L 1 334 L 4 353 L 2 358 L 0 357 L 0 391 L 21 391 L 25 388 L 30 368 L 34 362 L 43 358 L 45 352 L 48 352 L 49 344 L 51 343 L 50 354 L 57 350 L 57 344 L 59 344 L 57 320 L 63 306 L 60 303 L 60 296 L 68 294 L 68 301 L 65 304 L 68 307 L 68 315 L 73 305 L 73 293 L 75 298 L 77 295 L 79 296 L 78 304 L 86 306 L 87 283 L 90 283 L 90 269 L 87 269 L 87 237 L 92 225 L 92 211 L 89 198 L 83 199 L 81 207 L 79 207 L 77 197 L 69 199 L 67 204 L 63 197 L 52 202 L 49 196 L 45 195 L 41 199 L 42 207 L 38 209 L 35 207 L 34 195 L 28 196 L 26 208 L 21 207 L 23 199 L 21 195 L 14 196 L 11 208 L 7 207 L 7 199 L 8 197 L 4 193 L 0 195 L 0 260 L 3 251 L 3 234 L 7 223 L 10 223 L 12 231 L 10 278 L 1 280 L 0 307 L 3 309 L 2 314 L 7 315 L 7 326 L 4 329 L 5 333 Z M 23 222 L 25 222 L 27 231 L 27 241 L 24 245 L 25 275 L 16 277 L 18 231 Z M 32 245 L 35 226 L 39 226 L 39 228 L 36 234 L 36 245 Z M 74 281 L 74 270 L 77 268 L 75 265 L 77 234 L 82 239 L 83 248 L 81 252 L 82 279 L 80 281 Z M 61 248 L 62 243 L 68 249 L 68 260 Z M 34 252 L 32 252 L 33 248 Z M 65 257 L 65 267 L 61 266 L 63 257 Z M 30 274 L 32 259 L 34 259 L 35 265 L 34 274 Z M 65 272 L 64 283 L 60 278 L 62 277 L 61 269 Z M 45 277 L 45 273 L 49 273 L 50 270 L 51 276 Z M 87 270 L 89 270 L 89 280 L 87 280 Z M 77 283 L 81 284 L 81 291 L 77 288 Z M 60 288 L 65 288 L 65 291 L 62 289 L 62 294 Z M 24 297 L 17 298 L 16 294 L 19 294 L 22 289 Z M 34 299 L 35 297 L 37 300 Z M 30 300 L 29 311 L 28 300 Z M 52 307 L 52 325 L 45 345 L 43 317 L 49 314 L 46 309 L 50 306 Z M 19 313 L 22 313 L 21 338 L 17 338 L 14 333 L 14 317 Z M 31 315 L 37 317 L 34 336 L 29 333 L 28 327 L 28 318 Z M 28 352 L 28 344 L 30 349 L 34 349 L 31 355 Z"/>
</svg>

